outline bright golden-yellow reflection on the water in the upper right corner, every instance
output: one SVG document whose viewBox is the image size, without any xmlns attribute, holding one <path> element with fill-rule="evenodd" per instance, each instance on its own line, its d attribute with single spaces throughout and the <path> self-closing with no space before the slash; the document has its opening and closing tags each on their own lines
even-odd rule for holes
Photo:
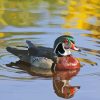
<svg viewBox="0 0 100 100">
<path fill-rule="evenodd" d="M 66 7 L 64 27 L 99 31 L 99 0 L 70 0 Z"/>
</svg>

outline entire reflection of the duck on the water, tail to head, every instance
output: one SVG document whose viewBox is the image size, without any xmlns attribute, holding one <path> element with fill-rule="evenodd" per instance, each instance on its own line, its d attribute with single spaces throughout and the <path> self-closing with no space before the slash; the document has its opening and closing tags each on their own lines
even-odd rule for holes
<svg viewBox="0 0 100 100">
<path fill-rule="evenodd" d="M 53 77 L 53 88 L 55 93 L 63 98 L 72 98 L 74 94 L 77 92 L 78 89 L 80 89 L 80 86 L 71 86 L 70 80 L 77 76 L 80 69 L 75 70 L 66 70 L 66 71 L 55 71 L 51 72 L 51 70 L 42 70 L 42 69 L 36 69 L 25 62 L 17 61 L 17 62 L 11 62 L 9 64 L 6 64 L 8 68 L 14 68 L 14 69 L 20 69 L 21 71 L 19 73 L 28 73 L 32 75 L 33 77 L 7 77 L 7 76 L 0 76 L 0 77 L 6 77 L 10 79 L 16 79 L 16 80 L 30 80 L 30 79 L 37 79 L 37 78 L 51 78 Z"/>
</svg>

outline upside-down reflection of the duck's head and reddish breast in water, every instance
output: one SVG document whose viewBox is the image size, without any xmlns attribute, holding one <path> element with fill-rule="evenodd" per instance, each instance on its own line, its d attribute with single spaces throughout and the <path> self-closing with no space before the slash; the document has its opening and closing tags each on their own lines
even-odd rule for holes
<svg viewBox="0 0 100 100">
<path fill-rule="evenodd" d="M 55 93 L 63 98 L 71 98 L 74 96 L 76 91 L 80 89 L 80 86 L 71 86 L 69 80 L 76 76 L 79 69 L 67 70 L 67 71 L 56 71 L 53 74 L 53 87 Z"/>
</svg>

